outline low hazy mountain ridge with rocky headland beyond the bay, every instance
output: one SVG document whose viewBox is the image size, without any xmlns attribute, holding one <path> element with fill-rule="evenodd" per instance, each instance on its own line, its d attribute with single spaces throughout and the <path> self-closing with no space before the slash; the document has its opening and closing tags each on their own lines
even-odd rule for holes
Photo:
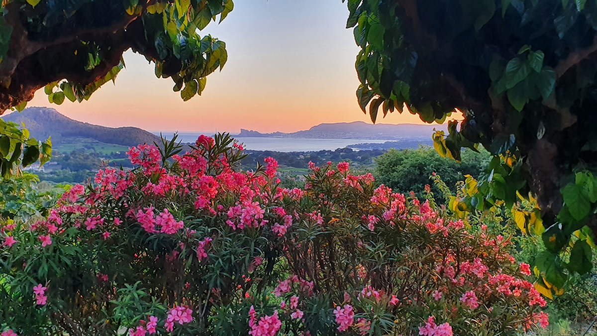
<svg viewBox="0 0 597 336">
<path fill-rule="evenodd" d="M 431 138 L 433 129 L 447 130 L 445 125 L 418 124 L 367 124 L 353 123 L 319 124 L 309 130 L 294 133 L 259 133 L 241 129 L 239 138 L 311 138 L 311 139 L 381 139 L 400 140 L 405 138 Z"/>
</svg>

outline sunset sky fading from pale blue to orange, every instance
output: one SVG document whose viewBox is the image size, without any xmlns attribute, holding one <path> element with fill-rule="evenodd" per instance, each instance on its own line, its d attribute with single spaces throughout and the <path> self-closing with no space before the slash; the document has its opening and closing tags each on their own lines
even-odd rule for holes
<svg viewBox="0 0 597 336">
<path fill-rule="evenodd" d="M 156 78 L 143 56 L 127 51 L 126 69 L 82 103 L 48 102 L 75 120 L 152 132 L 296 132 L 321 123 L 365 121 L 356 102 L 359 48 L 341 0 L 238 0 L 220 24 L 203 30 L 226 42 L 228 61 L 207 77 L 201 96 L 183 102 L 170 78 Z M 378 123 L 422 122 L 407 111 Z"/>
</svg>

